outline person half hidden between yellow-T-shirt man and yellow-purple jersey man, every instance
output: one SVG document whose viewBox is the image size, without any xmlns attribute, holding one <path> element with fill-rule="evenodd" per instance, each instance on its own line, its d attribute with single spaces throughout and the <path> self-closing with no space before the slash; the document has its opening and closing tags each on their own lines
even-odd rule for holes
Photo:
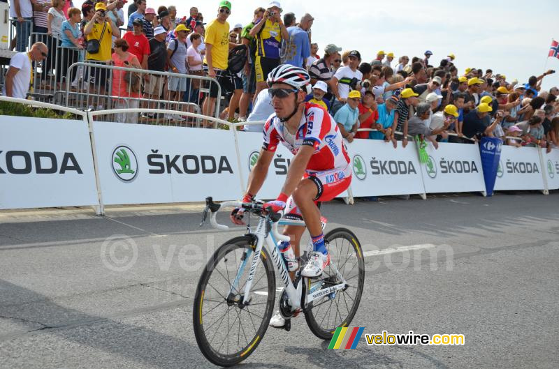
<svg viewBox="0 0 559 369">
<path fill-rule="evenodd" d="M 256 71 L 254 70 L 254 54 L 256 54 L 256 38 L 250 36 L 250 30 L 254 27 L 254 24 L 260 22 L 264 15 L 266 9 L 256 8 L 254 10 L 254 16 L 252 22 L 247 24 L 241 32 L 241 41 L 243 45 L 248 47 L 248 57 L 247 64 L 242 71 L 242 95 L 239 101 L 239 120 L 243 121 L 247 119 L 247 112 L 249 109 L 249 103 L 254 98 L 254 92 L 256 92 Z"/>
</svg>

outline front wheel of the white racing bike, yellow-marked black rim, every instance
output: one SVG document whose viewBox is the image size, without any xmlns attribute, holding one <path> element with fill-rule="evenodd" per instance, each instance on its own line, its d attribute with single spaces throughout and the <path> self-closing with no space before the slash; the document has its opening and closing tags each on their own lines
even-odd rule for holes
<svg viewBox="0 0 559 369">
<path fill-rule="evenodd" d="M 254 352 L 272 317 L 275 275 L 272 260 L 262 248 L 252 279 L 250 302 L 242 303 L 256 239 L 242 236 L 227 241 L 206 265 L 194 297 L 194 336 L 206 359 L 233 366 Z M 244 264 L 237 287 L 231 285 Z"/>
</svg>

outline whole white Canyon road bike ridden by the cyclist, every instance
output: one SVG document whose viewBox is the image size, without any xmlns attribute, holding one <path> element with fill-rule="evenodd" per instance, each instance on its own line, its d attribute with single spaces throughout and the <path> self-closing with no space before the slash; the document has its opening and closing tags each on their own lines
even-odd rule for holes
<svg viewBox="0 0 559 369">
<path fill-rule="evenodd" d="M 354 318 L 365 280 L 361 244 L 349 229 L 337 228 L 324 237 L 331 261 L 317 278 L 302 278 L 312 243 L 300 257 L 300 267 L 292 281 L 278 248 L 278 241 L 289 236 L 277 232 L 278 225 L 305 225 L 302 220 L 282 218 L 262 202 L 213 202 L 206 198 L 201 225 L 211 212 L 216 229 L 220 209 L 245 209 L 246 218 L 259 218 L 254 229 L 230 239 L 215 251 L 198 281 L 194 297 L 193 323 L 196 342 L 204 356 L 218 366 L 233 366 L 254 352 L 263 339 L 275 303 L 276 273 L 284 284 L 279 311 L 286 318 L 284 329 L 291 329 L 291 317 L 302 310 L 315 336 L 330 340 L 339 326 Z M 326 218 L 322 218 L 322 227 Z"/>
</svg>

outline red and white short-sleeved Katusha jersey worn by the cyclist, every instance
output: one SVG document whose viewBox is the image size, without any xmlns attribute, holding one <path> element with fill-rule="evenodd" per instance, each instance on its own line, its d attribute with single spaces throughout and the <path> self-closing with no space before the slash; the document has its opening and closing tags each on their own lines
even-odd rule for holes
<svg viewBox="0 0 559 369">
<path fill-rule="evenodd" d="M 295 135 L 289 134 L 284 123 L 273 115 L 264 125 L 263 136 L 263 149 L 267 151 L 276 151 L 279 142 L 293 155 L 303 146 L 314 147 L 314 154 L 307 165 L 307 172 L 310 173 L 344 170 L 349 164 L 347 149 L 337 124 L 319 105 L 305 104 L 305 111 Z"/>
</svg>

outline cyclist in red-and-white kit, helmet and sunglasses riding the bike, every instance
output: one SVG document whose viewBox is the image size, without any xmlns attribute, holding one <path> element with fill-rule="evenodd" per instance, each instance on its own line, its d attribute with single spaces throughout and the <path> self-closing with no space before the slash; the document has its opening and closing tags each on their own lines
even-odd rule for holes
<svg viewBox="0 0 559 369">
<path fill-rule="evenodd" d="M 249 174 L 242 202 L 252 202 L 266 179 L 277 145 L 279 142 L 284 144 L 294 157 L 281 193 L 264 207 L 270 206 L 276 212 L 286 209 L 286 218 L 305 220 L 312 237 L 313 252 L 301 274 L 316 278 L 330 262 L 317 203 L 329 201 L 349 187 L 350 160 L 332 116 L 319 105 L 305 102 L 311 92 L 310 75 L 306 70 L 282 64 L 270 72 L 267 82 L 275 114 L 264 125 L 263 146 Z M 234 209 L 231 220 L 243 225 L 242 216 L 243 209 Z M 305 227 L 293 225 L 286 226 L 283 231 L 290 236 L 291 242 L 282 242 L 279 249 L 291 272 L 298 269 L 295 255 L 299 255 L 303 232 Z M 270 321 L 270 326 L 276 328 L 282 328 L 284 324 L 279 312 Z"/>
</svg>

